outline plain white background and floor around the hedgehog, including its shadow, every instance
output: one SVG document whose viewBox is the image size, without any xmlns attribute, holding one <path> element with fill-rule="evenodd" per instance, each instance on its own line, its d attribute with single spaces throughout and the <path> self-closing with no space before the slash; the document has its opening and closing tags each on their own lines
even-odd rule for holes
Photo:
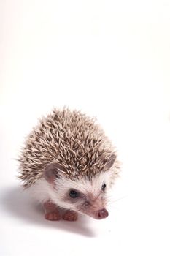
<svg viewBox="0 0 170 256">
<path fill-rule="evenodd" d="M 170 2 L 0 2 L 0 255 L 170 255 Z M 53 107 L 97 116 L 122 173 L 109 217 L 48 222 L 15 158 Z"/>
</svg>

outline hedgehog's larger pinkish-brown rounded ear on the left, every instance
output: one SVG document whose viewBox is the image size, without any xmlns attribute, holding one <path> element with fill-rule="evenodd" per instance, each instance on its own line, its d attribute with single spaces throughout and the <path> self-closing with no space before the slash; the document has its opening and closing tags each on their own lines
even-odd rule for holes
<svg viewBox="0 0 170 256">
<path fill-rule="evenodd" d="M 49 183 L 53 183 L 54 179 L 58 177 L 58 173 L 64 170 L 64 167 L 57 162 L 53 162 L 45 167 L 45 179 Z"/>
</svg>

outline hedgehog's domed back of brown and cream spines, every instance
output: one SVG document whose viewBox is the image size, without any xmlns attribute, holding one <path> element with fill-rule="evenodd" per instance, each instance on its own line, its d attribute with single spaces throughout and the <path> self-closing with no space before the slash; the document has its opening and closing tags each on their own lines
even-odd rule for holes
<svg viewBox="0 0 170 256">
<path fill-rule="evenodd" d="M 111 143 L 93 118 L 75 110 L 53 110 L 26 140 L 19 159 L 20 178 L 29 187 L 51 162 L 63 165 L 70 178 L 95 175 L 112 152 Z"/>
</svg>

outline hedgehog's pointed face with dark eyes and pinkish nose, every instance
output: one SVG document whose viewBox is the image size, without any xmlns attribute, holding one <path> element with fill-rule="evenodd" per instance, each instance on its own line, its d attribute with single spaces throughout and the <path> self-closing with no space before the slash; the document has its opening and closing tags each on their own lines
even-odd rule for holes
<svg viewBox="0 0 170 256">
<path fill-rule="evenodd" d="M 113 177 L 113 170 L 111 170 L 111 166 L 109 167 L 108 170 L 104 170 L 91 178 L 79 176 L 72 179 L 67 178 L 62 172 L 54 177 L 54 172 L 48 170 L 47 173 L 50 176 L 46 179 L 53 184 L 55 190 L 53 200 L 62 208 L 87 214 L 95 219 L 106 218 L 108 216 L 106 210 L 107 192 Z"/>
</svg>

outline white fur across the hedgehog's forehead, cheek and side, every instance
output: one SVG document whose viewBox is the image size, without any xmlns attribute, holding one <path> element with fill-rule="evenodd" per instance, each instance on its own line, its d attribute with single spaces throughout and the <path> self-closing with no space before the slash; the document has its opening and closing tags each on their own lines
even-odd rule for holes
<svg viewBox="0 0 170 256">
<path fill-rule="evenodd" d="M 77 211 L 77 206 L 79 202 L 72 203 L 72 200 L 64 200 L 63 198 L 68 195 L 71 189 L 77 190 L 84 195 L 93 195 L 93 198 L 97 198 L 101 195 L 101 187 L 105 183 L 107 185 L 106 191 L 102 193 L 103 197 L 107 197 L 107 189 L 110 187 L 110 177 L 112 176 L 112 170 L 108 170 L 106 172 L 101 172 L 96 175 L 92 181 L 88 178 L 80 177 L 76 180 L 71 180 L 66 178 L 63 174 L 61 174 L 60 178 L 55 179 L 55 185 L 52 186 L 48 183 L 45 178 L 40 178 L 39 181 L 36 181 L 36 184 L 32 185 L 29 190 L 31 190 L 32 194 L 39 200 L 44 203 L 47 200 L 53 201 L 56 205 L 61 208 L 70 209 L 73 211 Z"/>
</svg>

